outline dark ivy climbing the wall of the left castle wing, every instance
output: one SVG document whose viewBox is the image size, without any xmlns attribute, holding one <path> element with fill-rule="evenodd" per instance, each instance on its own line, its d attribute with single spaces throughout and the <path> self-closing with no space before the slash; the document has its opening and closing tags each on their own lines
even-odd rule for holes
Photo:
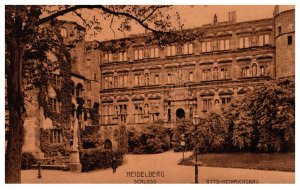
<svg viewBox="0 0 300 190">
<path fill-rule="evenodd" d="M 39 105 L 44 110 L 44 116 L 52 120 L 55 129 L 60 130 L 62 142 L 50 142 L 50 129 L 41 128 L 40 146 L 45 156 L 69 155 L 70 140 L 72 139 L 72 132 L 70 129 L 71 121 L 71 103 L 72 103 L 72 81 L 71 81 L 71 58 L 65 46 L 61 46 L 56 50 L 55 55 L 58 60 L 58 68 L 60 72 L 60 85 L 51 85 L 56 93 L 56 99 L 61 102 L 60 111 L 53 111 L 48 105 L 48 91 L 50 86 L 50 76 L 52 71 L 49 71 L 48 76 L 45 76 L 45 84 L 40 85 L 39 88 Z"/>
</svg>

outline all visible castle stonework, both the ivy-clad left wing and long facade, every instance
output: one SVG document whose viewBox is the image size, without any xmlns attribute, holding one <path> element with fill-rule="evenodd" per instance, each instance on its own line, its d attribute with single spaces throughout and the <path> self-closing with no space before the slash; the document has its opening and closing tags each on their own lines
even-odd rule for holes
<svg viewBox="0 0 300 190">
<path fill-rule="evenodd" d="M 99 137 L 117 149 L 117 126 L 163 120 L 163 127 L 173 128 L 178 119 L 205 117 L 267 80 L 295 76 L 295 10 L 279 12 L 275 7 L 272 18 L 245 22 L 237 22 L 235 12 L 228 17 L 218 22 L 215 15 L 211 24 L 195 28 L 204 31 L 200 40 L 160 48 L 145 42 L 149 33 L 132 35 L 118 53 L 101 47 L 124 39 L 68 44 L 78 37 L 78 25 L 63 22 L 61 34 L 71 55 L 72 107 L 78 106 L 78 97 L 85 109 L 98 104 Z M 61 76 L 53 73 L 55 81 Z M 49 92 L 54 111 L 59 111 L 63 105 L 55 91 Z M 53 129 L 51 142 L 61 143 L 59 130 L 41 106 L 27 107 L 23 151 L 42 153 L 41 128 Z M 89 116 L 80 121 L 81 127 L 91 125 Z"/>
</svg>

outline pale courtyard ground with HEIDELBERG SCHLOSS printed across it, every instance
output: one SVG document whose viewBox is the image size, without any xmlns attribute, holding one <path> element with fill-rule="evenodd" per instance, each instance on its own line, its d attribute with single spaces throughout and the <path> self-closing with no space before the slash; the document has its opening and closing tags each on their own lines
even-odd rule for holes
<svg viewBox="0 0 300 190">
<path fill-rule="evenodd" d="M 185 153 L 185 157 L 192 153 Z M 125 163 L 112 173 L 102 169 L 87 173 L 43 170 L 23 170 L 22 183 L 194 183 L 193 166 L 177 165 L 182 153 L 125 156 Z M 295 172 L 199 167 L 200 183 L 295 183 Z"/>
</svg>

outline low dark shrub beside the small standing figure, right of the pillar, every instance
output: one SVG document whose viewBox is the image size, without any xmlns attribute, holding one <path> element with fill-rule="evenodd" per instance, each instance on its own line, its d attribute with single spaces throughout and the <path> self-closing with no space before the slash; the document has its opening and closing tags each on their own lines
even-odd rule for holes
<svg viewBox="0 0 300 190">
<path fill-rule="evenodd" d="M 110 168 L 113 157 L 116 158 L 118 166 L 122 165 L 123 154 L 121 152 L 103 151 L 98 148 L 82 149 L 80 150 L 82 172 Z"/>
</svg>

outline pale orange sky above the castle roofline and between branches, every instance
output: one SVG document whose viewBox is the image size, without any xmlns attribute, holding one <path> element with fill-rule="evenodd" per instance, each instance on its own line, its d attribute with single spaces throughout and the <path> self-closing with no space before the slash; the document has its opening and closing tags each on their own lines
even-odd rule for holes
<svg viewBox="0 0 300 190">
<path fill-rule="evenodd" d="M 181 16 L 182 23 L 184 23 L 185 28 L 200 27 L 203 24 L 209 24 L 213 22 L 213 17 L 216 14 L 218 17 L 218 22 L 223 22 L 228 20 L 228 12 L 236 11 L 237 22 L 256 20 L 263 18 L 272 18 L 273 10 L 275 5 L 175 5 L 175 10 Z M 294 9 L 293 5 L 280 5 L 280 12 Z M 91 12 L 86 13 L 87 17 Z M 74 16 L 67 15 L 61 19 L 74 20 Z M 80 22 L 80 20 L 78 20 Z M 143 33 L 145 30 L 139 26 L 132 25 L 133 29 L 131 32 L 121 33 L 117 30 L 118 20 L 114 19 L 112 24 L 112 29 L 110 28 L 110 19 L 102 20 L 103 30 L 98 35 L 86 35 L 87 41 L 97 40 L 104 41 L 116 38 L 126 37 L 130 34 Z"/>
</svg>

